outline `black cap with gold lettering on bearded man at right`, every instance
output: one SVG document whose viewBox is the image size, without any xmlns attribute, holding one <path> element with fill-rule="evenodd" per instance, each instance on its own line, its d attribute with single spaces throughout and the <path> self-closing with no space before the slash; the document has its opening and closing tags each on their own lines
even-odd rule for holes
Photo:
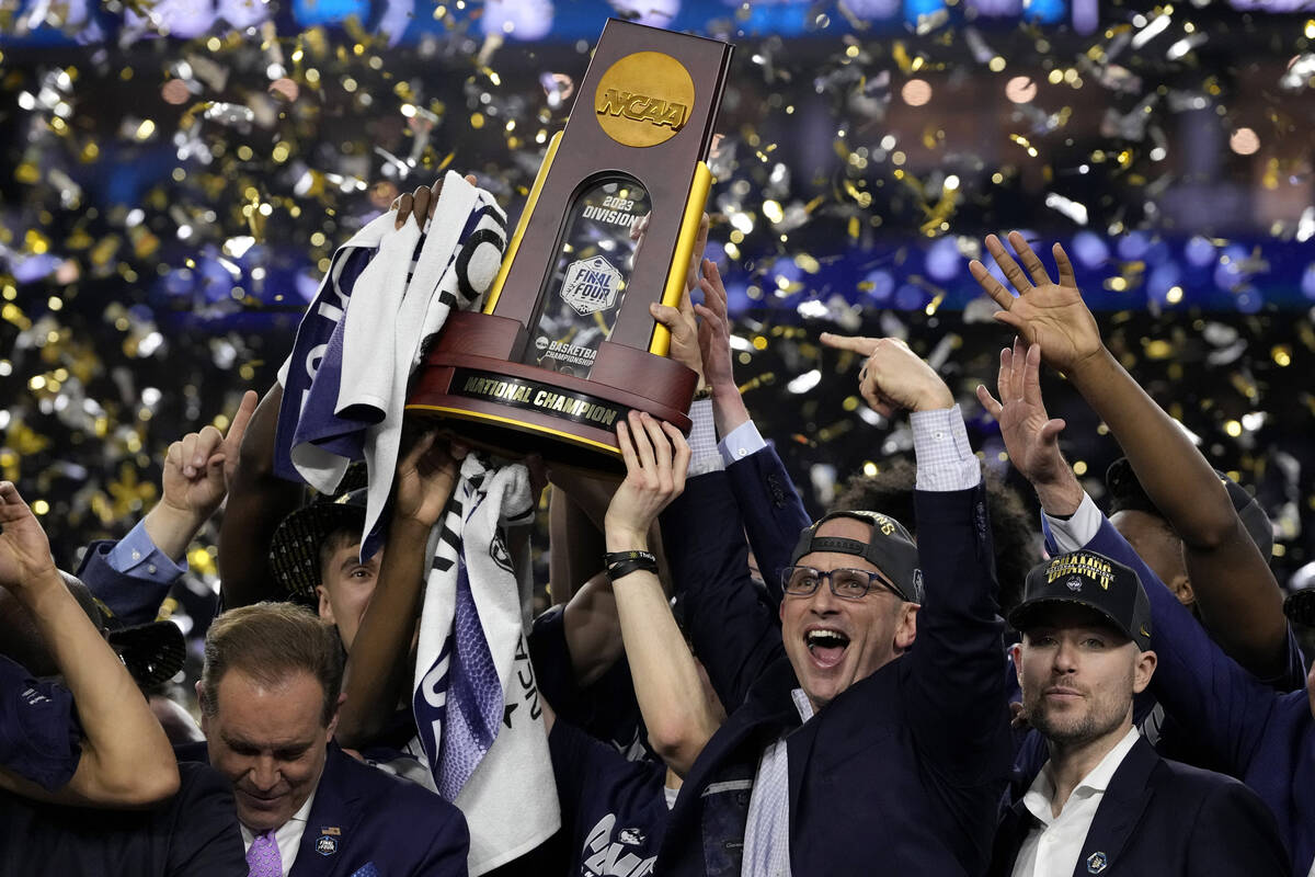
<svg viewBox="0 0 1315 877">
<path fill-rule="evenodd" d="M 1151 601 L 1137 573 L 1094 551 L 1070 551 L 1032 567 L 1023 602 L 1009 614 L 1027 632 L 1051 606 L 1086 606 L 1145 651 L 1151 647 Z"/>
</svg>

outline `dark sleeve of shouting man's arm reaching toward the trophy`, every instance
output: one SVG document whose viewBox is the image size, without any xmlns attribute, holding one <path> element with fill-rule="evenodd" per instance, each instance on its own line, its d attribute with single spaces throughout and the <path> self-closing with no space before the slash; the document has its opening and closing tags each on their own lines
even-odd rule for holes
<svg viewBox="0 0 1315 877">
<path fill-rule="evenodd" d="M 661 514 L 661 535 L 685 632 L 731 713 L 785 648 L 777 611 L 750 576 L 744 521 L 726 472 L 686 481 Z"/>
</svg>

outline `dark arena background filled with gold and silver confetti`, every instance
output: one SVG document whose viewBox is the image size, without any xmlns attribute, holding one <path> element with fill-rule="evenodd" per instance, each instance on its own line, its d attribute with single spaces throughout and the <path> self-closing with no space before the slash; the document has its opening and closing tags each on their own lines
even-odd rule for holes
<svg viewBox="0 0 1315 877">
<path fill-rule="evenodd" d="M 1009 472 L 973 396 L 1009 333 L 967 266 L 1022 229 L 1068 247 L 1304 584 L 1315 4 L 1277 0 L 0 1 L 0 475 L 63 567 L 150 508 L 172 440 L 268 388 L 334 247 L 397 193 L 472 172 L 514 220 L 609 16 L 736 45 L 707 255 L 810 511 L 911 447 L 822 331 L 947 363 Z M 1118 447 L 1045 380 L 1099 501 Z M 213 539 L 172 606 L 193 634 Z"/>
</svg>

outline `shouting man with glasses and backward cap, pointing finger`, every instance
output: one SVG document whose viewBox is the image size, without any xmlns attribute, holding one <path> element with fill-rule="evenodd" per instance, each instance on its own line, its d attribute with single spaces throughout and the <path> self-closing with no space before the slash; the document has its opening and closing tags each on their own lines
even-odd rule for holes
<svg viewBox="0 0 1315 877">
<path fill-rule="evenodd" d="M 777 609 L 750 577 L 726 473 L 688 480 L 664 543 L 696 652 L 738 707 L 685 777 L 658 873 L 989 863 L 1013 747 L 981 468 L 952 393 L 902 342 L 823 342 L 865 358 L 874 410 L 911 412 L 920 548 L 886 515 L 827 515 L 798 538 Z"/>
</svg>

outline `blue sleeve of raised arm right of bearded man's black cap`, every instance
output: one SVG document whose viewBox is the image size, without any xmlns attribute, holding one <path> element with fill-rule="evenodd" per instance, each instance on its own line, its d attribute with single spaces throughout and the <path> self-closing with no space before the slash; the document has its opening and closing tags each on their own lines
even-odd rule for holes
<svg viewBox="0 0 1315 877">
<path fill-rule="evenodd" d="M 1132 567 L 1151 601 L 1151 648 L 1157 664 L 1151 690 L 1233 776 L 1244 776 L 1278 696 L 1223 653 L 1132 546 L 1107 521 L 1085 546 Z"/>
</svg>

